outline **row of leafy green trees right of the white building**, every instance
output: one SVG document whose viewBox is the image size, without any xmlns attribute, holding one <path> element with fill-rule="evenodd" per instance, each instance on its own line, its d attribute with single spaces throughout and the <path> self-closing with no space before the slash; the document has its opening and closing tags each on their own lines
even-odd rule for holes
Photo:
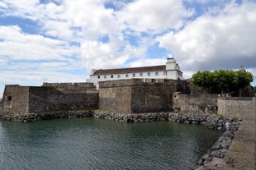
<svg viewBox="0 0 256 170">
<path fill-rule="evenodd" d="M 239 92 L 250 85 L 254 80 L 253 74 L 249 71 L 239 70 L 218 70 L 218 71 L 197 71 L 192 76 L 191 82 L 193 85 L 205 88 L 209 93 L 230 93 Z"/>
</svg>

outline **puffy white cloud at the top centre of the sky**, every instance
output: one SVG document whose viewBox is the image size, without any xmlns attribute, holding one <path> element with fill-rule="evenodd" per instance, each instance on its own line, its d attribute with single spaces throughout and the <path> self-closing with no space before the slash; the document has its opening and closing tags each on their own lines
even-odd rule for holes
<svg viewBox="0 0 256 170">
<path fill-rule="evenodd" d="M 183 26 L 184 19 L 193 13 L 183 7 L 182 1 L 140 0 L 130 2 L 118 15 L 132 30 L 159 33 L 168 29 L 178 30 Z"/>
</svg>

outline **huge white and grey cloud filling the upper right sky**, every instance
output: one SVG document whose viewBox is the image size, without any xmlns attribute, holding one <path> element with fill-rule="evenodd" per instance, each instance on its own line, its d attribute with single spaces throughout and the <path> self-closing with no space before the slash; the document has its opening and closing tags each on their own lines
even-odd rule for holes
<svg viewBox="0 0 256 170">
<path fill-rule="evenodd" d="M 183 71 L 255 68 L 255 7 L 252 2 L 231 2 L 215 8 L 181 31 L 159 36 L 159 46 L 176 54 Z"/>
</svg>

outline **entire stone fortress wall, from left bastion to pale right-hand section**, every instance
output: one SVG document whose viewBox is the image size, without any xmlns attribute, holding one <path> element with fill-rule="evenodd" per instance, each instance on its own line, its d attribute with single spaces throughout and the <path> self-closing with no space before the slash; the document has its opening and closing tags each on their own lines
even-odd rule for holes
<svg viewBox="0 0 256 170">
<path fill-rule="evenodd" d="M 188 94 L 186 80 L 130 79 L 92 83 L 6 85 L 0 111 L 47 112 L 99 109 L 112 113 L 216 113 L 243 117 L 250 98 L 219 98 L 217 94 Z"/>
</svg>

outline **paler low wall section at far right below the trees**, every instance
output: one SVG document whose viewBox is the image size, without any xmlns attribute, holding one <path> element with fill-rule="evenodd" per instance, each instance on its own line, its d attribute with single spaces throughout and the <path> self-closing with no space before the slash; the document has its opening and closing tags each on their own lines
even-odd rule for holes
<svg viewBox="0 0 256 170">
<path fill-rule="evenodd" d="M 249 113 L 252 109 L 252 98 L 219 98 L 218 114 L 227 118 L 243 119 L 244 113 Z"/>
</svg>

